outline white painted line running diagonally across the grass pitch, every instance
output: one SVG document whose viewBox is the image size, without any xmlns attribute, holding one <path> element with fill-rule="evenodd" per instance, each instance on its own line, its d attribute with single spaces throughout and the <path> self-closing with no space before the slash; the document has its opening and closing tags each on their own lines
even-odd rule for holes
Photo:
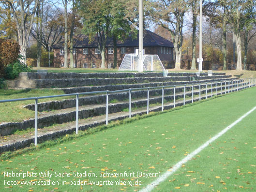
<svg viewBox="0 0 256 192">
<path fill-rule="evenodd" d="M 224 130 L 222 130 L 220 133 L 216 134 L 215 136 L 213 136 L 210 140 L 208 140 L 207 142 L 205 142 L 203 145 L 201 145 L 199 148 L 197 148 L 196 150 L 194 150 L 192 153 L 190 153 L 189 155 L 187 155 L 185 158 L 183 158 L 180 162 L 177 162 L 172 169 L 169 169 L 168 171 L 166 171 L 166 173 L 164 175 L 161 175 L 158 179 L 156 179 L 155 181 L 153 181 L 151 184 L 149 184 L 146 188 L 140 190 L 140 192 L 150 192 L 152 191 L 156 185 L 159 185 L 159 183 L 163 182 L 166 180 L 167 177 L 171 176 L 174 172 L 176 172 L 182 164 L 188 162 L 189 160 L 191 160 L 196 154 L 198 154 L 201 150 L 203 150 L 204 148 L 206 148 L 211 142 L 215 141 L 216 139 L 218 139 L 220 136 L 222 136 L 224 133 L 226 133 L 229 129 L 231 129 L 233 126 L 235 126 L 237 123 L 239 123 L 243 118 L 245 118 L 246 116 L 248 116 L 250 113 L 252 113 L 254 110 L 256 109 L 256 106 L 251 109 L 250 111 L 248 111 L 246 114 L 244 114 L 243 116 L 241 116 L 241 118 L 237 119 L 235 122 L 233 122 L 232 124 L 230 124 L 229 126 L 227 126 Z"/>
</svg>

